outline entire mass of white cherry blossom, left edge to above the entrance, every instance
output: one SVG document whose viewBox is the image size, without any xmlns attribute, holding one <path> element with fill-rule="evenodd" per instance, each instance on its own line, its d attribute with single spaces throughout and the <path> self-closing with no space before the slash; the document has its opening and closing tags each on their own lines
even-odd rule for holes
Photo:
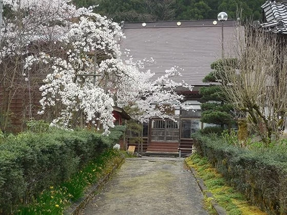
<svg viewBox="0 0 287 215">
<path fill-rule="evenodd" d="M 179 105 L 183 97 L 177 95 L 176 87 L 190 88 L 171 80 L 179 75 L 176 67 L 154 80 L 150 71 L 140 72 L 141 63 L 123 61 L 121 28 L 93 13 L 93 7 L 76 8 L 69 0 L 7 4 L 17 13 L 17 19 L 5 19 L 1 62 L 7 62 L 7 57 L 11 60 L 11 56 L 20 59 L 21 72 L 28 82 L 31 74 L 46 76 L 40 87 L 39 114 L 49 114 L 51 125 L 101 125 L 107 134 L 113 126 L 115 104 L 137 109 L 131 115 L 141 122 L 150 116 L 172 118 L 164 113 L 164 104 Z M 155 102 L 156 110 L 151 105 Z"/>
</svg>

